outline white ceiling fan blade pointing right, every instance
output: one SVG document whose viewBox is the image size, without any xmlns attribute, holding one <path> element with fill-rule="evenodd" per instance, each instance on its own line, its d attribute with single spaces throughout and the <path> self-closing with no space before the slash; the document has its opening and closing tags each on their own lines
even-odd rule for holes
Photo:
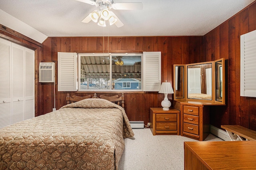
<svg viewBox="0 0 256 170">
<path fill-rule="evenodd" d="M 127 3 L 113 3 L 114 10 L 142 10 L 143 5 L 141 2 L 127 2 Z"/>
</svg>

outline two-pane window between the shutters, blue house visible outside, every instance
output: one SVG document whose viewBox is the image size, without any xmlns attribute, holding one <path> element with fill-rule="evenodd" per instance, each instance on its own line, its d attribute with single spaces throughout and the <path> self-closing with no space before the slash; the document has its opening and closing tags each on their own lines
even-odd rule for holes
<svg viewBox="0 0 256 170">
<path fill-rule="evenodd" d="M 79 54 L 80 91 L 142 90 L 141 53 Z"/>
</svg>

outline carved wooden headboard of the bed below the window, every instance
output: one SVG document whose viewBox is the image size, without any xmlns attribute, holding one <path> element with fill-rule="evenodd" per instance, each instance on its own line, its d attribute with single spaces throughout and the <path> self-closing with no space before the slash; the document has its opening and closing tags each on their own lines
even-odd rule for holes
<svg viewBox="0 0 256 170">
<path fill-rule="evenodd" d="M 70 94 L 67 93 L 66 102 L 67 102 L 67 104 L 70 104 L 70 103 L 74 103 L 74 102 L 77 102 L 77 101 L 80 101 L 83 99 L 88 99 L 90 97 L 91 97 L 91 95 L 87 95 L 87 96 L 73 95 L 72 97 L 70 97 Z M 120 105 L 120 106 L 122 106 L 122 108 L 124 108 L 124 93 L 122 93 L 120 97 L 119 97 L 119 95 L 114 95 L 114 96 L 100 95 L 100 97 L 98 97 L 97 94 L 94 93 L 94 96 L 92 98 L 106 99 L 106 100 L 116 103 L 117 105 Z"/>
</svg>

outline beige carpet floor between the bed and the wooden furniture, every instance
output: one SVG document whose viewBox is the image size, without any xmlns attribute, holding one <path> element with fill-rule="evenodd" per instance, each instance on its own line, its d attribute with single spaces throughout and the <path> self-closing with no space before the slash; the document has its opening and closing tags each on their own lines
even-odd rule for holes
<svg viewBox="0 0 256 170">
<path fill-rule="evenodd" d="M 184 170 L 184 142 L 197 141 L 180 135 L 155 135 L 150 128 L 133 129 L 126 138 L 119 170 Z M 206 140 L 222 140 L 210 134 Z"/>
</svg>

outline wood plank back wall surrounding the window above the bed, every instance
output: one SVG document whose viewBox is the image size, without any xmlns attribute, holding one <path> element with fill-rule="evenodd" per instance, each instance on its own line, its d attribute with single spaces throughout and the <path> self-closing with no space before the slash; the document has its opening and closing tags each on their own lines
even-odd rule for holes
<svg viewBox="0 0 256 170">
<path fill-rule="evenodd" d="M 109 42 L 108 42 L 109 40 Z M 104 52 L 142 52 L 161 51 L 162 81 L 173 81 L 173 64 L 184 64 L 205 61 L 202 36 L 186 37 L 104 37 Z M 57 63 L 58 52 L 103 52 L 103 37 L 49 37 L 43 43 L 42 61 Z M 56 68 L 57 80 L 57 68 Z M 57 81 L 56 81 L 57 82 Z M 57 89 L 57 85 L 55 85 Z M 40 103 L 38 115 L 52 111 L 54 107 L 54 85 L 40 83 Z M 66 104 L 66 95 L 70 92 L 56 90 L 56 109 Z M 94 92 L 93 92 L 94 93 Z M 91 93 L 90 95 L 93 95 Z M 74 92 L 70 93 L 74 95 Z M 97 93 L 114 95 L 113 93 Z M 88 95 L 88 93 L 76 95 Z M 172 102 L 172 95 L 168 95 Z M 158 92 L 125 93 L 125 110 L 130 121 L 149 122 L 149 108 L 161 107 L 164 94 Z"/>
</svg>

